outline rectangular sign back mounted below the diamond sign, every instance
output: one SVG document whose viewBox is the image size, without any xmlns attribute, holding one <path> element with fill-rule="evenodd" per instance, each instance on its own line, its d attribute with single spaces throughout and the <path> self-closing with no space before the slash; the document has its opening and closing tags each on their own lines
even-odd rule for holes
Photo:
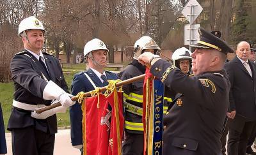
<svg viewBox="0 0 256 155">
<path fill-rule="evenodd" d="M 200 24 L 191 24 L 191 44 L 190 44 L 190 24 L 184 26 L 184 45 L 195 45 L 200 39 L 197 31 Z"/>
</svg>

